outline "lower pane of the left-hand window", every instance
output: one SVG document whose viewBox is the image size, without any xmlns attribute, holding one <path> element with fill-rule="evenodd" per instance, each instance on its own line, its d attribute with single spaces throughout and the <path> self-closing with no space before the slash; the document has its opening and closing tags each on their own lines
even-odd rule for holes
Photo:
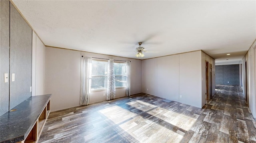
<svg viewBox="0 0 256 143">
<path fill-rule="evenodd" d="M 107 76 L 93 76 L 91 90 L 107 88 Z"/>
</svg>

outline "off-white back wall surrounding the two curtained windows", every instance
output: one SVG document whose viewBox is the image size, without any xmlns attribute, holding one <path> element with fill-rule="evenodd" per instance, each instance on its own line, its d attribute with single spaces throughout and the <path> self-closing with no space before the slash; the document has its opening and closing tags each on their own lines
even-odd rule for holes
<svg viewBox="0 0 256 143">
<path fill-rule="evenodd" d="M 90 56 L 131 61 L 131 93 L 141 93 L 142 61 L 96 53 L 46 47 L 46 92 L 52 94 L 51 110 L 62 110 L 80 106 L 80 57 Z M 106 90 L 94 91 L 91 103 L 106 100 Z M 116 98 L 126 96 L 125 88 L 116 89 Z"/>
</svg>

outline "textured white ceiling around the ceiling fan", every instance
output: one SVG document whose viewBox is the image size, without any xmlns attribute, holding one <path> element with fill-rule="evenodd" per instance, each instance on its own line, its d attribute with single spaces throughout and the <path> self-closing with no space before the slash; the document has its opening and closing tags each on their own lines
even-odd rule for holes
<svg viewBox="0 0 256 143">
<path fill-rule="evenodd" d="M 136 58 L 143 42 L 141 59 L 202 49 L 239 63 L 256 38 L 256 1 L 13 2 L 45 45 L 107 55 Z"/>
</svg>

